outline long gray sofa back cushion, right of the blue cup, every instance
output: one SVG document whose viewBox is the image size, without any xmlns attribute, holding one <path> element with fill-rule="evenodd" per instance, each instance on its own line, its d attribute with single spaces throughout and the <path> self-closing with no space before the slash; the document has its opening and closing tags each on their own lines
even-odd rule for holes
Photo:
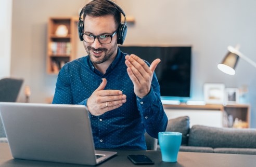
<svg viewBox="0 0 256 167">
<path fill-rule="evenodd" d="M 256 148 L 256 129 L 195 125 L 189 131 L 188 145 L 212 148 Z"/>
</svg>

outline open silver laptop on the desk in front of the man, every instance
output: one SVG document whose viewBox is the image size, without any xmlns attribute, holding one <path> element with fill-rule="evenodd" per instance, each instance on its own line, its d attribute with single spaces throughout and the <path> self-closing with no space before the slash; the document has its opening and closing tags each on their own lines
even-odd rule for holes
<svg viewBox="0 0 256 167">
<path fill-rule="evenodd" d="M 0 114 L 14 158 L 96 165 L 117 154 L 95 150 L 84 105 L 0 102 Z"/>
</svg>

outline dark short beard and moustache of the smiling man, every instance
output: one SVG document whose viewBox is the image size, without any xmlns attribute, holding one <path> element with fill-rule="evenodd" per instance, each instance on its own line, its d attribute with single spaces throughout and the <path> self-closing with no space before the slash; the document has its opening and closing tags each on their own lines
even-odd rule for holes
<svg viewBox="0 0 256 167">
<path fill-rule="evenodd" d="M 92 63 L 101 64 L 101 63 L 108 61 L 112 56 L 114 56 L 113 53 L 117 50 L 117 44 L 114 46 L 116 46 L 116 47 L 112 47 L 112 48 L 110 48 L 110 50 L 108 50 L 107 48 L 95 49 L 91 46 L 88 46 L 88 47 L 85 46 L 85 50 L 88 53 L 89 59 L 91 60 Z M 103 52 L 103 55 L 101 55 L 100 57 L 97 58 L 97 57 L 95 57 L 95 55 L 92 54 L 93 51 Z"/>
</svg>

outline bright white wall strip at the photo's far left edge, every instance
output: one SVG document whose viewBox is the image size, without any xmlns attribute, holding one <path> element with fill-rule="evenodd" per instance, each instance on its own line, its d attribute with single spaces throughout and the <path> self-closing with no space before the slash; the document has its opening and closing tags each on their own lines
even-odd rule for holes
<svg viewBox="0 0 256 167">
<path fill-rule="evenodd" d="M 0 1 L 0 79 L 10 76 L 12 0 Z"/>
</svg>

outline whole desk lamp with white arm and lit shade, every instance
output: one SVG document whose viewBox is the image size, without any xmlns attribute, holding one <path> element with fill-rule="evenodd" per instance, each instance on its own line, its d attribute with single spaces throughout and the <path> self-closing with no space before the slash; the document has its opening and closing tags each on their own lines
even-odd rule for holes
<svg viewBox="0 0 256 167">
<path fill-rule="evenodd" d="M 226 54 L 225 58 L 222 60 L 220 64 L 217 65 L 217 67 L 220 69 L 220 71 L 229 74 L 234 75 L 235 67 L 237 65 L 237 62 L 239 60 L 239 57 L 250 63 L 252 66 L 256 68 L 256 63 L 253 62 L 251 59 L 247 58 L 244 54 L 242 54 L 240 51 L 238 51 L 239 45 L 236 46 L 236 48 L 232 46 L 228 46 L 227 50 L 228 53 Z"/>
</svg>

